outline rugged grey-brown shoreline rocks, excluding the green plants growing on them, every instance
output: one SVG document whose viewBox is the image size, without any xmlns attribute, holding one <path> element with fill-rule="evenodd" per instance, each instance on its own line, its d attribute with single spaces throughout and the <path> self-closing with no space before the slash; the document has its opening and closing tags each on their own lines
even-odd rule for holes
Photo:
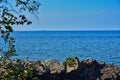
<svg viewBox="0 0 120 80">
<path fill-rule="evenodd" d="M 12 60 L 8 63 L 14 65 L 19 62 L 21 65 L 26 63 L 34 65 L 33 76 L 36 76 L 38 80 L 120 80 L 120 66 L 97 62 L 95 59 L 79 60 L 77 57 L 73 59 L 74 63 L 71 65 L 57 60 Z M 5 64 L 7 63 L 0 61 L 0 75 L 8 71 L 9 67 L 3 67 Z M 0 79 L 3 80 L 1 76 Z"/>
</svg>

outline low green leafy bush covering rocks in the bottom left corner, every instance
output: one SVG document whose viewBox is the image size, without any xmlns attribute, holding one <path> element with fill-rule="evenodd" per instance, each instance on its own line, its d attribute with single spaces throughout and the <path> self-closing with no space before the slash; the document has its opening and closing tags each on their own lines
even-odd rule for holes
<svg viewBox="0 0 120 80">
<path fill-rule="evenodd" d="M 34 66 L 29 62 L 5 60 L 3 63 L 1 66 L 5 70 L 0 72 L 0 80 L 38 80 L 34 76 Z"/>
</svg>

